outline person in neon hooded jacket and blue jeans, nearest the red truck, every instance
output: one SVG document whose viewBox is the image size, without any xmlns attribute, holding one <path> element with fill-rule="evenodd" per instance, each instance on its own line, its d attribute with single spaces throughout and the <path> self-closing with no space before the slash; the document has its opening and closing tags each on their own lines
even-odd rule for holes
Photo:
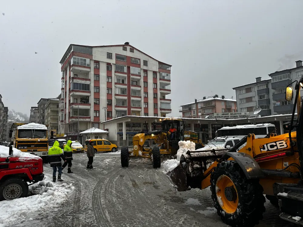
<svg viewBox="0 0 303 227">
<path fill-rule="evenodd" d="M 48 150 L 48 160 L 53 167 L 53 182 L 56 182 L 56 172 L 58 168 L 58 181 L 63 181 L 61 179 L 62 173 L 62 163 L 61 159 L 66 162 L 65 156 L 63 155 L 62 149 L 59 147 L 59 142 L 56 140 L 54 145 Z"/>
</svg>

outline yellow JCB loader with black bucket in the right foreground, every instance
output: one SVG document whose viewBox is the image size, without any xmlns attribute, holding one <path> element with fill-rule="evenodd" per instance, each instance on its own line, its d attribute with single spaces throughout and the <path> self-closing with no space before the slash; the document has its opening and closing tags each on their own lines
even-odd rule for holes
<svg viewBox="0 0 303 227">
<path fill-rule="evenodd" d="M 218 215 L 231 226 L 257 225 L 265 211 L 265 194 L 273 205 L 280 206 L 281 219 L 303 225 L 303 77 L 293 83 L 296 94 L 291 122 L 283 125 L 289 133 L 258 139 L 248 134 L 229 150 L 188 151 L 168 173 L 178 191 L 210 186 Z M 288 101 L 293 99 L 291 84 L 285 92 Z M 298 120 L 294 122 L 296 107 Z M 213 163 L 207 168 L 210 160 Z"/>
</svg>

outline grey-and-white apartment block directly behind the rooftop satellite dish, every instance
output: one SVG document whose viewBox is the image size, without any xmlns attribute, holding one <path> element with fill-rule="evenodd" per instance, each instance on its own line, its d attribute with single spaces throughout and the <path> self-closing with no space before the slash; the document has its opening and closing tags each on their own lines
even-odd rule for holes
<svg viewBox="0 0 303 227">
<path fill-rule="evenodd" d="M 258 113 L 261 117 L 273 114 L 271 79 L 257 77 L 256 82 L 233 89 L 236 91 L 238 112 L 249 112 L 251 117 L 255 117 L 255 110 L 261 108 Z"/>
</svg>

